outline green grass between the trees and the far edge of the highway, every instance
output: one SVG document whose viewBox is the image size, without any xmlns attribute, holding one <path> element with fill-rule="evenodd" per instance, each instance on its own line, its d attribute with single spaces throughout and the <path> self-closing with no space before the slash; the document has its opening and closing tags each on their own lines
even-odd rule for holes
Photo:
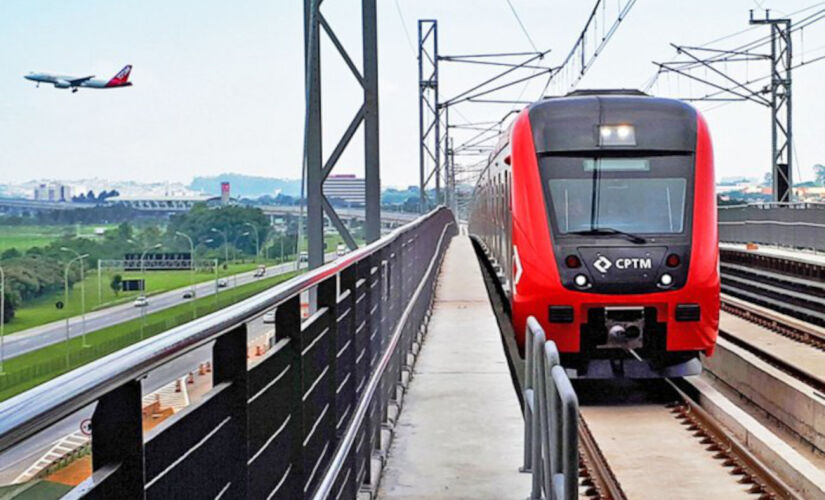
<svg viewBox="0 0 825 500">
<path fill-rule="evenodd" d="M 271 264 L 269 262 L 268 264 Z M 255 269 L 254 263 L 230 264 L 227 270 L 219 269 L 219 276 L 242 273 Z M 133 300 L 139 292 L 120 292 L 115 295 L 109 284 L 112 276 L 120 274 L 123 278 L 140 279 L 139 271 L 110 271 L 101 273 L 100 297 L 98 300 L 97 270 L 87 270 L 84 285 L 86 289 L 86 311 L 94 311 L 103 307 Z M 202 283 L 215 279 L 214 272 L 198 271 L 195 273 L 195 282 Z M 151 271 L 146 273 L 146 292 L 149 295 L 158 294 L 176 288 L 183 288 L 190 283 L 189 271 Z M 75 283 L 69 290 L 69 300 L 65 301 L 63 291 L 55 291 L 45 294 L 34 300 L 24 303 L 15 310 L 14 319 L 5 326 L 5 334 L 12 334 L 35 326 L 51 323 L 66 318 L 66 316 L 77 316 L 81 314 L 81 283 Z M 57 309 L 57 301 L 65 302 L 63 309 Z"/>
</svg>

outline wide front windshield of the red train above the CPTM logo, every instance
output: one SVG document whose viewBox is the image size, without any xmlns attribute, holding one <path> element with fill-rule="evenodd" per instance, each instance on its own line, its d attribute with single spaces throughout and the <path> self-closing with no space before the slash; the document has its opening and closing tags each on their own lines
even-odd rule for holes
<svg viewBox="0 0 825 500">
<path fill-rule="evenodd" d="M 685 231 L 693 156 L 540 159 L 556 231 Z"/>
</svg>

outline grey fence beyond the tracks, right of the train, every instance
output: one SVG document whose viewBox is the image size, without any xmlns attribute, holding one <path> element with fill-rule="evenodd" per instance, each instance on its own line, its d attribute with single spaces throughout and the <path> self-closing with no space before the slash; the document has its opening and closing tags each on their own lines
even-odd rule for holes
<svg viewBox="0 0 825 500">
<path fill-rule="evenodd" d="M 825 203 L 719 207 L 719 241 L 825 251 Z"/>
</svg>

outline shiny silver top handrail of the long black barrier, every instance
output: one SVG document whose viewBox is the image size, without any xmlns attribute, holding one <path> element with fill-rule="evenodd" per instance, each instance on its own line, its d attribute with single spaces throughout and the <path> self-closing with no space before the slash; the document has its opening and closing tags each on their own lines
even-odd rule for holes
<svg viewBox="0 0 825 500">
<path fill-rule="evenodd" d="M 97 401 L 112 387 L 135 380 L 198 347 L 215 340 L 344 270 L 422 225 L 445 207 L 401 226 L 389 235 L 299 277 L 281 283 L 242 302 L 121 349 L 97 361 L 60 375 L 0 403 L 0 449 L 7 449 L 60 419 Z"/>
</svg>

